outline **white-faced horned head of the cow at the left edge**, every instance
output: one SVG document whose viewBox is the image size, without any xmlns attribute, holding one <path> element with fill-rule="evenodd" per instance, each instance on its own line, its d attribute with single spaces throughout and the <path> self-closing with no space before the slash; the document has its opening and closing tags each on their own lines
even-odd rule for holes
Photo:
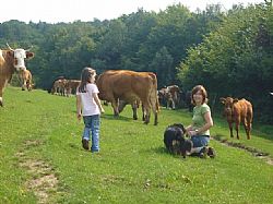
<svg viewBox="0 0 273 204">
<path fill-rule="evenodd" d="M 22 48 L 12 49 L 9 46 L 9 44 L 7 44 L 7 45 L 8 45 L 9 49 L 10 49 L 8 51 L 8 55 L 14 59 L 13 60 L 13 65 L 16 69 L 16 71 L 25 70 L 26 69 L 26 67 L 25 67 L 25 59 L 33 58 L 34 53 L 31 52 L 29 49 L 27 49 L 27 50 L 24 50 Z"/>
</svg>

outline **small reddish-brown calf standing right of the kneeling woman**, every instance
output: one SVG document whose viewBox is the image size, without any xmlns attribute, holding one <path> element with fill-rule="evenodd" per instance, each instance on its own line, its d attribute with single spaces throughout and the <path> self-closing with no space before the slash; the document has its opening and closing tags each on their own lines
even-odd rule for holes
<svg viewBox="0 0 273 204">
<path fill-rule="evenodd" d="M 234 137 L 233 134 L 233 122 L 235 122 L 235 129 L 237 133 L 237 139 L 239 140 L 239 124 L 242 122 L 247 137 L 250 140 L 250 131 L 252 125 L 252 118 L 253 118 L 253 110 L 252 105 L 250 101 L 237 98 L 219 98 L 221 103 L 225 105 L 224 107 L 224 115 L 227 119 L 229 130 L 230 130 L 230 137 Z"/>
</svg>

